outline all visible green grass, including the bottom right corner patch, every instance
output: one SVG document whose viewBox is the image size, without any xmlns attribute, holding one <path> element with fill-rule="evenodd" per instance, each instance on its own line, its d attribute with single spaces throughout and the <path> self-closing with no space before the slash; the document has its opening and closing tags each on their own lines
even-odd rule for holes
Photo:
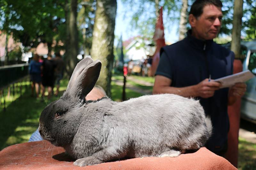
<svg viewBox="0 0 256 170">
<path fill-rule="evenodd" d="M 113 78 L 123 80 L 122 75 L 114 75 Z M 154 78 L 152 77 L 134 76 L 134 78 L 154 83 Z M 143 85 L 134 81 L 129 81 L 129 83 L 141 89 L 152 89 L 152 86 L 144 87 Z M 61 81 L 60 91 L 62 93 L 66 89 L 67 84 L 67 80 Z M 22 96 L 20 96 L 20 91 L 18 90 L 15 92 L 14 97 L 11 95 L 10 98 L 7 98 L 5 89 L 6 111 L 3 110 L 3 95 L 1 98 L 0 150 L 9 145 L 28 142 L 31 134 L 38 128 L 41 111 L 48 103 L 59 98 L 53 96 L 51 100 L 45 98 L 44 101 L 41 101 L 40 98 L 36 99 L 35 97 L 30 96 L 31 89 L 29 82 L 23 82 L 22 84 L 17 85 L 22 85 Z M 142 94 L 134 92 L 130 89 L 126 89 L 125 91 L 127 99 L 142 96 Z M 111 93 L 112 100 L 121 101 L 123 87 L 112 81 Z M 240 170 L 256 169 L 256 144 L 247 142 L 242 138 L 239 138 L 238 168 Z"/>
</svg>

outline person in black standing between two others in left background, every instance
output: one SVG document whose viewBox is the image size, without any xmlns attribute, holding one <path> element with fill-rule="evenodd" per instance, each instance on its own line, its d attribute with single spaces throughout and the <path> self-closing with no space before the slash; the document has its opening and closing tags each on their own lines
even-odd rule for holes
<svg viewBox="0 0 256 170">
<path fill-rule="evenodd" d="M 54 87 L 54 70 L 56 68 L 56 64 L 55 62 L 52 60 L 52 56 L 49 53 L 48 57 L 46 60 L 44 60 L 43 64 L 42 64 L 42 73 L 43 73 L 43 77 L 42 77 L 42 85 L 43 85 L 43 92 L 42 92 L 42 97 L 44 97 L 44 93 L 45 93 L 45 87 L 47 88 L 48 91 L 48 99 L 51 98 L 52 96 L 52 89 Z"/>
</svg>

